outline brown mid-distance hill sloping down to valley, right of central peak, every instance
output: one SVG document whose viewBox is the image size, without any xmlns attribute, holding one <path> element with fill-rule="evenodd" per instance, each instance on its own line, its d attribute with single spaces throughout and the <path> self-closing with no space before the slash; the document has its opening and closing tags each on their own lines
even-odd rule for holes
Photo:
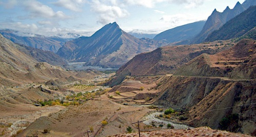
<svg viewBox="0 0 256 137">
<path fill-rule="evenodd" d="M 113 78 L 109 84 L 110 86 L 117 85 L 125 76 L 172 74 L 179 67 L 202 53 L 215 54 L 229 47 L 230 41 L 195 45 L 163 46 L 152 52 L 141 53 L 135 56 L 118 69 L 115 78 Z"/>
</svg>

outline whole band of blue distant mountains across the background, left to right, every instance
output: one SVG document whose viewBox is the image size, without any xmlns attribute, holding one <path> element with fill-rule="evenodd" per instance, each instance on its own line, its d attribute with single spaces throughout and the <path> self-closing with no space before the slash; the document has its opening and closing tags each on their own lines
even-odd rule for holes
<svg viewBox="0 0 256 137">
<path fill-rule="evenodd" d="M 16 35 L 18 32 L 12 30 L 2 30 L 0 33 L 14 43 L 53 51 L 68 62 L 85 62 L 85 66 L 119 68 L 126 62 L 130 61 L 137 54 L 153 51 L 154 49 L 167 45 L 167 43 L 170 42 L 172 44 L 169 45 L 200 43 L 203 42 L 207 36 L 209 36 L 207 41 L 237 38 L 244 34 L 246 34 L 244 38 L 253 37 L 254 29 L 252 27 L 254 26 L 253 23 L 255 23 L 253 16 L 254 12 L 250 12 L 250 14 L 244 13 L 240 17 L 236 17 L 234 19 L 232 18 L 239 15 L 249 8 L 249 6 L 254 4 L 254 1 L 246 0 L 242 5 L 238 2 L 232 10 L 227 7 L 222 13 L 215 9 L 206 21 L 198 21 L 178 26 L 174 29 L 164 31 L 156 35 L 154 39 L 136 38 L 121 30 L 116 22 L 106 24 L 91 37 L 79 37 L 73 40 L 62 39 L 59 37 L 44 37 L 39 35 L 35 35 L 34 37 L 24 37 Z M 248 18 L 249 16 L 252 17 Z M 231 21 L 229 21 L 230 19 Z M 243 24 L 239 23 L 240 25 L 237 25 L 239 21 L 241 22 L 241 20 L 243 20 Z M 228 22 L 228 24 L 225 24 L 226 22 Z M 252 22 L 249 24 L 250 27 L 247 27 L 247 24 L 250 22 Z M 219 32 L 216 31 L 214 34 L 209 35 L 211 32 L 221 28 L 221 26 L 224 24 L 225 26 L 223 26 Z M 230 32 L 232 32 L 234 26 L 238 28 L 235 30 L 240 30 L 240 32 L 234 31 L 233 33 L 235 33 L 236 36 L 231 36 Z M 225 34 L 223 29 L 227 30 L 228 28 L 230 29 L 229 31 L 225 31 L 227 32 L 227 34 Z M 225 36 L 225 38 L 220 38 L 216 33 Z M 78 37 L 77 35 L 74 36 Z M 218 38 L 214 38 L 217 36 Z M 28 49 L 28 47 L 26 47 L 26 49 Z M 32 54 L 32 52 L 35 52 L 32 50 L 35 49 L 29 50 L 31 50 L 31 53 L 26 53 L 33 55 L 34 58 L 39 56 L 37 54 Z M 38 52 L 42 53 L 42 51 Z M 38 57 L 37 60 L 46 61 L 48 63 L 53 60 L 57 60 L 57 62 L 61 62 L 57 63 L 58 65 L 64 64 L 65 61 L 63 61 L 63 59 L 60 59 L 51 53 L 49 53 L 49 55 L 53 57 L 52 60 L 49 59 L 50 56 L 45 56 L 46 58 L 44 59 L 42 58 L 43 56 L 41 56 Z"/>
</svg>

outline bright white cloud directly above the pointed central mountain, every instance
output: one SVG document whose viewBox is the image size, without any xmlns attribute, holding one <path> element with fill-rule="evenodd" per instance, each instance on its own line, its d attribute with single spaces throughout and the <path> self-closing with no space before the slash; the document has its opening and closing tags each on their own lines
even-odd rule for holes
<svg viewBox="0 0 256 137">
<path fill-rule="evenodd" d="M 123 18 L 129 15 L 129 12 L 127 12 L 125 9 L 116 5 L 108 5 L 108 2 L 111 4 L 117 4 L 117 2 L 114 0 L 95 0 L 91 3 L 92 11 L 99 14 L 99 23 L 106 24 L 116 21 L 117 18 Z"/>
</svg>

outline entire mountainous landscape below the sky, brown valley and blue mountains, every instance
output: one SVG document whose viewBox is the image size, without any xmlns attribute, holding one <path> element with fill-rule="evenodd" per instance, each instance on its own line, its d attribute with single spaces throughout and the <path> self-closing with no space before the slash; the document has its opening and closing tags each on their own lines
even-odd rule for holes
<svg viewBox="0 0 256 137">
<path fill-rule="evenodd" d="M 91 37 L 72 40 L 2 31 L 0 136 L 84 136 L 85 132 L 89 136 L 89 129 L 91 136 L 118 136 L 133 121 L 148 119 L 153 120 L 141 123 L 141 128 L 172 134 L 169 136 L 174 130 L 180 131 L 177 136 L 188 132 L 232 136 L 227 131 L 255 136 L 256 33 L 255 6 L 251 4 L 255 0 L 237 3 L 232 10 L 227 7 L 223 13 L 215 10 L 207 21 L 157 35 L 160 41 L 136 38 L 116 22 Z M 195 36 L 200 39 L 189 41 Z M 204 43 L 173 46 L 175 42 L 204 41 L 205 36 Z M 46 51 L 50 49 L 57 54 Z M 93 69 L 68 71 L 60 67 L 67 61 L 119 69 L 114 76 Z M 49 104 L 34 106 L 38 102 Z M 175 113 L 166 115 L 165 108 Z M 168 128 L 170 121 L 207 127 L 160 129 Z"/>
</svg>

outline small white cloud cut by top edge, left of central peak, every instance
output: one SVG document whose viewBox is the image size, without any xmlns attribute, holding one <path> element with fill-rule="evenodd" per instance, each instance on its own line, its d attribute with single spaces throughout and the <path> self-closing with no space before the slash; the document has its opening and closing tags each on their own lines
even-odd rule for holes
<svg viewBox="0 0 256 137">
<path fill-rule="evenodd" d="M 64 7 L 71 11 L 80 12 L 82 11 L 82 6 L 86 3 L 86 0 L 59 0 L 53 3 L 56 6 Z"/>
</svg>

